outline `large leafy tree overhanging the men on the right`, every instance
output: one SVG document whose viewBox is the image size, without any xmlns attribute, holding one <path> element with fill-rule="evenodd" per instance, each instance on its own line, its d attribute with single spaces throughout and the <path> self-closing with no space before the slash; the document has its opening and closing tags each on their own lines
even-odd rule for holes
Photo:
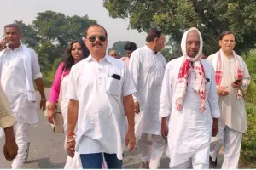
<svg viewBox="0 0 256 170">
<path fill-rule="evenodd" d="M 112 18 L 129 19 L 131 29 L 158 27 L 175 42 L 195 26 L 207 55 L 218 50 L 218 35 L 224 30 L 236 34 L 238 54 L 255 48 L 255 0 L 104 0 L 103 4 Z"/>
</svg>

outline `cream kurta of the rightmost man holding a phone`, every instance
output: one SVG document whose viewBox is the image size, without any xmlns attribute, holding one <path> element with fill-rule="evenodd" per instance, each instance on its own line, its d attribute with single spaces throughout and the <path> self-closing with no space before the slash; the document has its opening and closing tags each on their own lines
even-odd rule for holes
<svg viewBox="0 0 256 170">
<path fill-rule="evenodd" d="M 244 99 L 237 99 L 237 89 L 231 86 L 232 82 L 236 81 L 236 60 L 234 57 L 228 59 L 223 54 L 223 75 L 221 80 L 221 86 L 228 87 L 229 95 L 219 96 L 218 105 L 221 112 L 221 117 L 218 119 L 218 126 L 228 126 L 238 132 L 245 133 L 247 130 L 247 114 L 245 110 Z M 212 62 L 212 57 L 218 57 L 218 53 L 210 55 L 207 60 Z M 247 69 L 247 65 L 240 56 L 241 70 L 243 74 L 243 81 L 241 90 L 247 89 L 250 84 L 250 75 Z"/>
</svg>

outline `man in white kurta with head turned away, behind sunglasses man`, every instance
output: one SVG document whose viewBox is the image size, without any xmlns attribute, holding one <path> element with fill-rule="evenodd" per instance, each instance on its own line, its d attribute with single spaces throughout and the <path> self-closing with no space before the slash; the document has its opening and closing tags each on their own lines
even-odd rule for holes
<svg viewBox="0 0 256 170">
<path fill-rule="evenodd" d="M 165 36 L 155 29 L 148 31 L 148 42 L 131 54 L 130 72 L 137 93 L 133 95 L 136 115 L 135 134 L 137 138 L 137 156 L 142 161 L 140 168 L 155 169 L 160 165 L 165 141 L 160 136 L 160 91 L 166 67 L 166 59 L 159 53 L 165 47 Z M 148 134 L 152 139 L 149 150 Z"/>
</svg>

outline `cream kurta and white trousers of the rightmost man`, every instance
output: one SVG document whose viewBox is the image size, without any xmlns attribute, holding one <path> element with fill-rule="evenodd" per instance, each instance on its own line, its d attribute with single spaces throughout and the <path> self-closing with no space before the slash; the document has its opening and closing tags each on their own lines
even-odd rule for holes
<svg viewBox="0 0 256 170">
<path fill-rule="evenodd" d="M 244 99 L 237 99 L 237 89 L 232 88 L 232 82 L 236 81 L 237 67 L 236 59 L 232 56 L 228 59 L 222 50 L 219 51 L 222 56 L 222 79 L 221 86 L 228 87 L 229 94 L 218 97 L 218 105 L 221 111 L 221 117 L 218 121 L 218 135 L 212 138 L 211 154 L 212 161 L 216 161 L 219 150 L 225 145 L 224 163 L 222 168 L 238 168 L 238 161 L 241 150 L 242 133 L 247 130 L 247 116 Z M 246 90 L 250 84 L 250 75 L 247 65 L 243 59 L 236 55 L 241 65 L 243 75 L 241 90 Z M 218 52 L 207 58 L 216 70 Z"/>
</svg>

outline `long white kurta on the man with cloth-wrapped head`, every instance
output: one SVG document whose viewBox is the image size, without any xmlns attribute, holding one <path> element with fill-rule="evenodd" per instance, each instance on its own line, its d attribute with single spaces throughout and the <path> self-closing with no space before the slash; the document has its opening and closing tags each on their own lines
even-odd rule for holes
<svg viewBox="0 0 256 170">
<path fill-rule="evenodd" d="M 212 65 L 201 59 L 204 66 L 206 85 L 206 111 L 201 113 L 201 98 L 195 94 L 195 72 L 188 79 L 188 88 L 183 100 L 182 111 L 177 111 L 175 99 L 176 84 L 183 57 L 174 59 L 166 65 L 160 95 L 160 116 L 170 116 L 168 124 L 168 147 L 166 153 L 171 158 L 170 166 L 188 161 L 192 156 L 202 164 L 208 164 L 212 136 L 212 117 L 220 116 L 218 96 Z"/>
</svg>

